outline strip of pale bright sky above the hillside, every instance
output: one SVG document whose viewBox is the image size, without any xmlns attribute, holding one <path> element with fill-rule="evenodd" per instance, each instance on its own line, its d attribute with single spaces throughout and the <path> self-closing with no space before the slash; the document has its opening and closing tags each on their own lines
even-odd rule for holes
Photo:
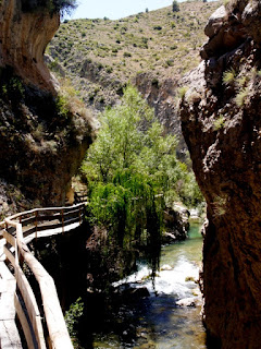
<svg viewBox="0 0 261 349">
<path fill-rule="evenodd" d="M 119 20 L 130 14 L 144 12 L 146 8 L 157 10 L 172 4 L 172 0 L 77 0 L 78 8 L 72 19 Z"/>
</svg>

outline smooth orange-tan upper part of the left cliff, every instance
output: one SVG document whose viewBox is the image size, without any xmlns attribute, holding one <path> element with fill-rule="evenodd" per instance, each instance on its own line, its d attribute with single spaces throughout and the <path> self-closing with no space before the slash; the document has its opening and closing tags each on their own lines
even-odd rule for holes
<svg viewBox="0 0 261 349">
<path fill-rule="evenodd" d="M 0 2 L 0 65 L 10 65 L 26 82 L 53 92 L 44 52 L 59 28 L 60 14 L 36 9 L 23 11 L 22 0 Z"/>
</svg>

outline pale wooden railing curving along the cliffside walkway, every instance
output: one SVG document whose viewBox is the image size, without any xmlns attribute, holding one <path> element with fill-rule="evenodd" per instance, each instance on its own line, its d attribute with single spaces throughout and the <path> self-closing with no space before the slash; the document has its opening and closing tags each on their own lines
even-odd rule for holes
<svg viewBox="0 0 261 349">
<path fill-rule="evenodd" d="M 14 304 L 28 348 L 72 349 L 52 277 L 35 258 L 26 242 L 39 237 L 65 233 L 80 225 L 85 204 L 71 207 L 36 208 L 0 222 L 7 240 L 4 253 L 16 279 Z M 29 268 L 40 290 L 40 302 L 23 273 Z M 39 304 L 40 303 L 40 304 Z"/>
</svg>

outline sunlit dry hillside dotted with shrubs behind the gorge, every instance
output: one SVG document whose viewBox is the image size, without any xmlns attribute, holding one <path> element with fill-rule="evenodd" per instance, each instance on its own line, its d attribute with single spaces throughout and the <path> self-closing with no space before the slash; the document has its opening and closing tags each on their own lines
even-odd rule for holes
<svg viewBox="0 0 261 349">
<path fill-rule="evenodd" d="M 178 12 L 167 7 L 119 21 L 65 21 L 49 45 L 49 65 L 71 77 L 95 112 L 114 105 L 132 81 L 173 129 L 165 119 L 174 113 L 175 89 L 181 76 L 199 63 L 203 27 L 219 5 L 189 1 Z"/>
</svg>

